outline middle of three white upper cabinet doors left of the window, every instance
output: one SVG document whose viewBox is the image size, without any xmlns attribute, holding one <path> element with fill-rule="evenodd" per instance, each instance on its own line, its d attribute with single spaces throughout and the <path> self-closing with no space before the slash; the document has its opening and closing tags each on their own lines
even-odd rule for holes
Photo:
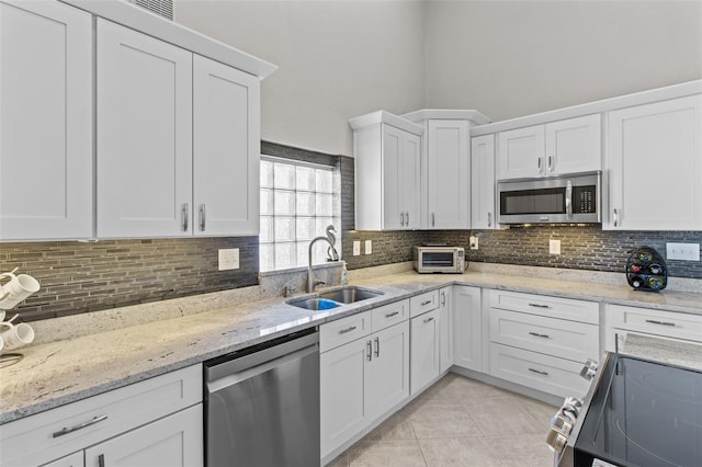
<svg viewBox="0 0 702 467">
<path fill-rule="evenodd" d="M 98 237 L 192 235 L 192 54 L 98 20 Z"/>
</svg>

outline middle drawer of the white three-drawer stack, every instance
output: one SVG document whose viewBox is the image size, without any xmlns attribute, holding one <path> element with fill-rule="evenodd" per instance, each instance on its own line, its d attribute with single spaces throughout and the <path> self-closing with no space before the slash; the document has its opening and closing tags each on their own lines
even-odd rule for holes
<svg viewBox="0 0 702 467">
<path fill-rule="evenodd" d="M 523 312 L 490 310 L 490 340 L 578 363 L 599 355 L 597 324 Z"/>
</svg>

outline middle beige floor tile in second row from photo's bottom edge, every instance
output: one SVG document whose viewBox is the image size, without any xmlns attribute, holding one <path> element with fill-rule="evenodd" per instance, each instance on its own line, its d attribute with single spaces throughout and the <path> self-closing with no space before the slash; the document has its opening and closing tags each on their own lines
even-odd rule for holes
<svg viewBox="0 0 702 467">
<path fill-rule="evenodd" d="M 427 405 L 409 415 L 417 438 L 480 436 L 482 433 L 462 405 Z"/>
</svg>

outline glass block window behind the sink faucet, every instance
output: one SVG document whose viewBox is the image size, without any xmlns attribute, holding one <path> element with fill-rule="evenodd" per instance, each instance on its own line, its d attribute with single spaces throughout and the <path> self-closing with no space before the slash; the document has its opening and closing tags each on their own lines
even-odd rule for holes
<svg viewBox="0 0 702 467">
<path fill-rule="evenodd" d="M 261 157 L 261 271 L 307 266 L 309 241 L 333 225 L 333 168 L 292 159 Z M 327 242 L 315 243 L 313 263 L 327 261 Z"/>
</svg>

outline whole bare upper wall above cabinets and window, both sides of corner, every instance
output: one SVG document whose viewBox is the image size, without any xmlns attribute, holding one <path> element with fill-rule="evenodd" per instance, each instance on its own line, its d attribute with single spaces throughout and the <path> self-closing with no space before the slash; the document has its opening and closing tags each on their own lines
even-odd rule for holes
<svg viewBox="0 0 702 467">
<path fill-rule="evenodd" d="M 492 121 L 702 78 L 702 0 L 176 0 L 177 21 L 276 64 L 262 138 L 352 155 L 348 118 Z"/>
</svg>

